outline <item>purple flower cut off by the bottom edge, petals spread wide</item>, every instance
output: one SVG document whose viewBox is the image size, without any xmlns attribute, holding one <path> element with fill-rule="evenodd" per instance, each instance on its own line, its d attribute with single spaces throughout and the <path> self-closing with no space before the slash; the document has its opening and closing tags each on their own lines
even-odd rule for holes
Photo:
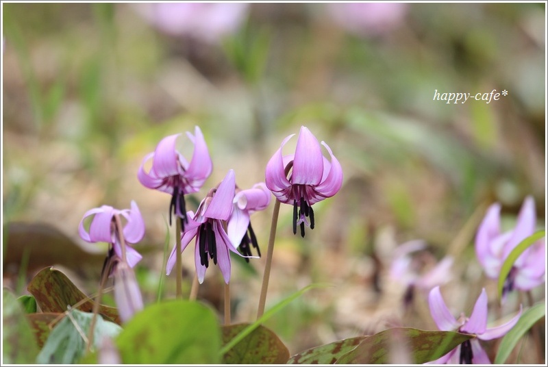
<svg viewBox="0 0 548 367">
<path fill-rule="evenodd" d="M 438 325 L 438 329 L 443 331 L 458 331 L 460 333 L 474 334 L 476 338 L 467 340 L 460 344 L 443 357 L 428 364 L 490 364 L 487 353 L 479 344 L 479 340 L 493 340 L 504 336 L 518 322 L 521 316 L 521 305 L 519 312 L 512 320 L 499 325 L 497 327 L 487 327 L 487 293 L 485 288 L 482 294 L 474 305 L 474 309 L 469 318 L 462 314 L 459 320 L 456 320 L 441 296 L 440 287 L 436 287 L 430 291 L 428 296 L 430 306 L 430 314 L 434 318 L 434 322 Z"/>
</svg>

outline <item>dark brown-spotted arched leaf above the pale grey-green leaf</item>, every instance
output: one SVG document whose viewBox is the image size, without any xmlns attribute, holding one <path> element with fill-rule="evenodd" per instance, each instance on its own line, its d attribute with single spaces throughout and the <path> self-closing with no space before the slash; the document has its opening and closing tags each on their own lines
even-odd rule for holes
<svg viewBox="0 0 548 367">
<path fill-rule="evenodd" d="M 42 312 L 65 312 L 67 306 L 74 307 L 79 301 L 89 298 L 71 279 L 54 268 L 40 270 L 27 286 L 27 290 L 34 296 Z M 76 308 L 83 312 L 92 312 L 93 301 L 88 299 Z M 114 307 L 101 305 L 99 314 L 119 325 L 121 323 L 118 310 Z"/>
</svg>

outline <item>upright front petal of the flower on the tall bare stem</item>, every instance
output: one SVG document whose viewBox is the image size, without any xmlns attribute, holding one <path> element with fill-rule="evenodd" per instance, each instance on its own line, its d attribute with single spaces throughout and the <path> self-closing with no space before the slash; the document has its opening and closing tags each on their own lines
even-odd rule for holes
<svg viewBox="0 0 548 367">
<path fill-rule="evenodd" d="M 323 175 L 323 155 L 320 143 L 310 130 L 301 126 L 295 160 L 293 161 L 292 184 L 320 184 Z"/>
</svg>

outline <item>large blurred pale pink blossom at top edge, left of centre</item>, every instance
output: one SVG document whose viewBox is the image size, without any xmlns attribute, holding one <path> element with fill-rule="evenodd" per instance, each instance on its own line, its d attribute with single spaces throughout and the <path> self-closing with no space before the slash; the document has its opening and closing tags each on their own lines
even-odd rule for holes
<svg viewBox="0 0 548 367">
<path fill-rule="evenodd" d="M 172 36 L 216 42 L 242 23 L 247 3 L 142 3 L 137 11 L 149 23 Z"/>
</svg>

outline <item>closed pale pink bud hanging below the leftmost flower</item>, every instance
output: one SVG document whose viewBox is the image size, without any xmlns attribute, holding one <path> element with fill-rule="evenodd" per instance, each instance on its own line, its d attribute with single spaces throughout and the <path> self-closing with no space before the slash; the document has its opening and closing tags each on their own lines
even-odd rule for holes
<svg viewBox="0 0 548 367">
<path fill-rule="evenodd" d="M 144 307 L 133 269 L 123 262 L 114 269 L 114 301 L 122 322 L 130 320 Z"/>
</svg>

